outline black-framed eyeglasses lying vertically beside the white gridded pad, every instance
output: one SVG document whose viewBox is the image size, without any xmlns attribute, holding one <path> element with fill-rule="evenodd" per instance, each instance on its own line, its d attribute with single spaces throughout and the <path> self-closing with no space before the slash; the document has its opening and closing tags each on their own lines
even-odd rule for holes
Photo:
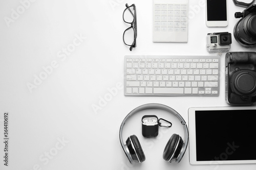
<svg viewBox="0 0 256 170">
<path fill-rule="evenodd" d="M 123 11 L 123 21 L 131 23 L 131 27 L 127 28 L 123 32 L 123 42 L 125 45 L 130 46 L 130 51 L 136 47 L 137 38 L 137 17 L 136 17 L 136 6 L 135 4 L 129 6 L 125 4 L 126 8 Z"/>
</svg>

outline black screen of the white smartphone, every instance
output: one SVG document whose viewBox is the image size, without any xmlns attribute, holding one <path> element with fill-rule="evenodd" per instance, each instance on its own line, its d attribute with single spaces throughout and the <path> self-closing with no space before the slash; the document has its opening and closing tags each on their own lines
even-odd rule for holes
<svg viewBox="0 0 256 170">
<path fill-rule="evenodd" d="M 208 21 L 227 20 L 226 0 L 207 0 L 207 20 Z"/>
</svg>

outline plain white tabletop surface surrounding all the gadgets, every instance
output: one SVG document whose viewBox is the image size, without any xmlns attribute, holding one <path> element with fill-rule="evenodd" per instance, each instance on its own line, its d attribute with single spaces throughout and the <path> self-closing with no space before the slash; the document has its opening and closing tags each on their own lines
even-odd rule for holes
<svg viewBox="0 0 256 170">
<path fill-rule="evenodd" d="M 166 113 L 142 112 L 125 126 L 124 140 L 132 134 L 140 140 L 146 155 L 143 163 L 129 163 L 118 137 L 125 115 L 142 104 L 168 105 L 186 121 L 189 107 L 228 106 L 224 54 L 218 97 L 124 96 L 123 87 L 120 88 L 123 58 L 124 55 L 209 56 L 205 48 L 207 33 L 233 34 L 239 20 L 234 18 L 234 12 L 242 12 L 244 8 L 229 1 L 228 27 L 207 28 L 204 1 L 191 0 L 188 42 L 153 43 L 153 1 L 31 0 L 25 3 L 26 8 L 21 2 L 0 2 L 1 141 L 4 112 L 9 112 L 10 137 L 8 166 L 3 161 L 4 144 L 0 144 L 1 169 L 256 168 L 255 164 L 190 165 L 188 150 L 179 164 L 164 161 L 162 152 L 169 137 L 173 133 L 183 136 L 182 126 Z M 122 41 L 123 31 L 130 27 L 122 20 L 125 3 L 137 7 L 138 38 L 132 52 Z M 19 14 L 14 15 L 17 11 Z M 82 37 L 81 41 L 77 36 Z M 231 51 L 255 51 L 255 47 L 244 48 L 234 38 L 232 41 Z M 63 50 L 67 47 L 75 48 L 64 58 Z M 49 68 L 49 74 L 45 74 L 44 68 Z M 37 80 L 35 85 L 39 76 L 44 80 Z M 33 88 L 29 89 L 28 84 L 34 84 Z M 141 117 L 149 113 L 172 121 L 173 127 L 160 128 L 155 139 L 144 139 Z M 245 137 L 249 139 L 250 136 Z"/>
</svg>

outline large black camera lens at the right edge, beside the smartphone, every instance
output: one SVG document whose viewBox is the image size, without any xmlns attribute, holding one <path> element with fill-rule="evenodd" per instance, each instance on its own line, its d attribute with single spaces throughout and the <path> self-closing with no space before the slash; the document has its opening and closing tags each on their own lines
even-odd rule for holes
<svg viewBox="0 0 256 170">
<path fill-rule="evenodd" d="M 244 46 L 256 44 L 256 12 L 238 21 L 234 27 L 234 38 Z"/>
</svg>

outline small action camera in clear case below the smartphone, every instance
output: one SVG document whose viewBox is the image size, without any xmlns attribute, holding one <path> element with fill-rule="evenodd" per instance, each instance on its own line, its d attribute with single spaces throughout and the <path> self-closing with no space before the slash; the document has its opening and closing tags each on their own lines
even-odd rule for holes
<svg viewBox="0 0 256 170">
<path fill-rule="evenodd" d="M 231 48 L 231 33 L 208 33 L 206 36 L 206 49 L 209 53 L 228 52 Z"/>
</svg>

